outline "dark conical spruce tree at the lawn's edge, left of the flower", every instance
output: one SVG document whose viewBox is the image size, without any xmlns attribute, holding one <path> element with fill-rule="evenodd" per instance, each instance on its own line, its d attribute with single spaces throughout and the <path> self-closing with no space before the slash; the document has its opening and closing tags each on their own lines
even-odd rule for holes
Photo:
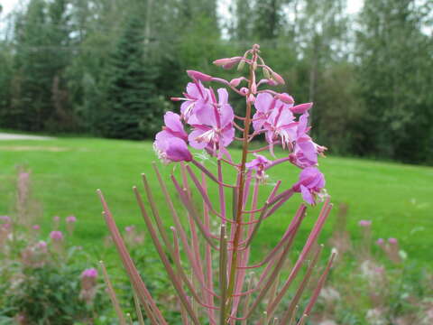
<svg viewBox="0 0 433 325">
<path fill-rule="evenodd" d="M 128 17 L 107 66 L 106 111 L 101 128 L 108 137 L 143 139 L 160 127 L 157 71 L 144 56 L 143 34 L 142 20 Z"/>
</svg>

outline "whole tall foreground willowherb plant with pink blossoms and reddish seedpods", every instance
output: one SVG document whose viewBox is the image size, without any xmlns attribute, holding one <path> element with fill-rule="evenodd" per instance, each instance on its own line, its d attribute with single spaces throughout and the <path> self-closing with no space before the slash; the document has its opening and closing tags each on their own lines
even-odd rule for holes
<svg viewBox="0 0 433 325">
<path fill-rule="evenodd" d="M 253 45 L 244 56 L 215 60 L 214 63 L 224 69 L 237 65 L 241 72 L 246 66 L 248 77 L 227 81 L 188 70 L 192 82 L 184 97 L 172 98 L 182 102 L 180 114 L 165 114 L 165 126 L 154 142 L 163 163 L 180 165 L 180 174 L 173 170 L 170 182 L 174 185 L 175 196 L 186 209 L 187 222 L 182 222 L 176 202 L 155 163 L 153 169 L 160 184 L 158 190 L 163 193 L 174 225 L 170 227 L 170 234 L 158 209 L 160 202 L 155 201 L 146 175 L 143 175 L 143 185 L 147 203 L 134 187 L 136 200 L 177 292 L 182 323 L 304 324 L 336 255 L 331 254 L 318 279 L 313 285 L 309 284 L 322 250 L 316 241 L 332 208 L 324 190 L 324 175 L 317 168 L 318 154 L 326 148 L 315 144 L 309 136 L 312 103 L 295 106 L 290 95 L 263 88 L 284 84 L 284 80 L 264 63 L 259 45 Z M 263 79 L 257 79 L 259 73 Z M 223 88 L 214 91 L 204 85 L 207 82 L 220 84 Z M 240 87 L 243 83 L 245 87 Z M 228 102 L 227 89 L 245 98 L 244 116 L 235 116 Z M 252 150 L 250 144 L 254 137 L 263 134 L 267 144 Z M 242 144 L 240 162 L 235 162 L 227 150 L 234 141 Z M 209 159 L 215 160 L 216 171 L 196 160 L 189 146 L 204 150 Z M 269 150 L 275 157 L 275 146 L 285 150 L 282 158 L 271 160 L 258 154 Z M 294 171 L 298 169 L 299 181 L 290 184 L 286 190 L 281 190 L 282 182 L 277 181 L 265 194 L 267 199 L 260 202 L 259 191 L 266 190 L 262 185 L 266 182 L 267 172 L 281 163 L 293 165 Z M 237 177 L 228 179 L 226 169 L 234 169 Z M 209 196 L 210 186 L 216 187 L 217 198 Z M 314 205 L 318 200 L 324 204 L 296 262 L 288 271 L 287 257 L 306 215 L 306 204 L 299 206 L 280 242 L 263 256 L 260 263 L 251 264 L 251 244 L 261 225 L 297 192 L 308 204 Z M 152 324 L 167 324 L 126 250 L 102 192 L 98 190 L 98 193 L 106 224 L 148 319 Z M 226 199 L 229 194 L 233 198 L 231 201 Z M 201 201 L 199 205 L 193 200 L 197 197 Z M 153 220 L 148 209 L 152 211 Z M 306 265 L 305 272 L 301 271 L 303 265 Z M 250 274 L 252 270 L 257 274 L 256 278 Z M 294 292 L 289 292 L 292 284 L 297 287 Z M 299 304 L 305 300 L 301 301 L 302 292 L 308 285 L 313 290 L 301 311 Z M 290 297 L 289 303 L 281 306 L 287 297 Z"/>
</svg>

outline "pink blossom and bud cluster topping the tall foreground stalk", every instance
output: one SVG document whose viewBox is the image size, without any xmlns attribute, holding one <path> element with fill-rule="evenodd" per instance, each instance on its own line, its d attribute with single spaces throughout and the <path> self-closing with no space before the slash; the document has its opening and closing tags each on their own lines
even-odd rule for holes
<svg viewBox="0 0 433 325">
<path fill-rule="evenodd" d="M 244 142 L 244 138 L 235 136 L 235 130 L 243 133 L 244 137 L 247 136 L 248 142 L 263 134 L 268 145 L 256 152 L 269 150 L 272 157 L 275 157 L 274 147 L 280 145 L 287 151 L 285 157 L 272 161 L 254 153 L 255 158 L 244 166 L 255 171 L 258 179 L 265 180 L 265 171 L 272 166 L 284 162 L 292 163 L 302 170 L 293 190 L 300 192 L 309 204 L 315 204 L 318 193 L 325 187 L 325 178 L 317 168 L 318 155 L 323 154 L 327 148 L 314 143 L 309 136 L 309 109 L 313 103 L 295 105 L 295 100 L 289 94 L 263 88 L 266 85 L 282 85 L 284 79 L 264 64 L 258 52 L 258 45 L 254 45 L 243 57 L 214 61 L 224 69 L 231 69 L 235 65 L 251 65 L 253 69 L 250 80 L 238 77 L 227 81 L 188 70 L 192 82 L 187 85 L 183 97 L 171 98 L 182 101 L 180 114 L 165 114 L 164 126 L 156 135 L 154 149 L 163 163 L 194 161 L 189 151 L 189 147 L 192 147 L 205 150 L 211 156 L 240 170 L 241 164 L 233 163 L 226 149 L 234 141 Z M 256 81 L 259 69 L 263 71 L 263 79 Z M 215 91 L 214 88 L 206 87 L 205 82 L 216 82 L 224 88 L 217 88 Z M 248 88 L 242 86 L 243 82 Z M 252 118 L 235 116 L 229 103 L 227 88 L 244 97 L 246 102 L 254 107 L 255 111 L 248 112 L 253 114 Z M 249 132 L 250 123 L 253 125 L 253 132 Z"/>
</svg>

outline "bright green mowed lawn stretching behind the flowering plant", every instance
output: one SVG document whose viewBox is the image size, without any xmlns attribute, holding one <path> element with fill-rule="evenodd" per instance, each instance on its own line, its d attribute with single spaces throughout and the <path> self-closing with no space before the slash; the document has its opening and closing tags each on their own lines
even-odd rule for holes
<svg viewBox="0 0 433 325">
<path fill-rule="evenodd" d="M 235 152 L 235 156 L 239 153 Z M 141 185 L 140 174 L 146 172 L 152 180 L 161 214 L 167 226 L 171 225 L 167 204 L 152 174 L 155 160 L 151 142 L 95 138 L 1 141 L 0 215 L 12 213 L 14 209 L 16 166 L 27 166 L 32 170 L 33 198 L 41 202 L 43 211 L 39 221 L 35 222 L 41 224 L 44 233 L 50 231 L 53 216 L 64 218 L 74 214 L 78 218 L 75 244 L 100 254 L 107 231 L 101 217 L 97 188 L 105 193 L 122 228 L 128 225 L 144 228 L 132 186 Z M 158 164 L 169 181 L 173 166 Z M 206 164 L 213 168 L 215 163 L 207 161 Z M 335 203 L 321 242 L 327 243 L 335 226 L 338 205 L 346 203 L 349 207 L 348 228 L 355 239 L 360 237 L 358 221 L 373 220 L 373 238 L 396 237 L 411 260 L 429 264 L 433 246 L 433 168 L 331 156 L 320 160 L 320 170 L 326 175 L 327 191 Z M 234 173 L 228 173 L 233 178 Z M 298 173 L 289 164 L 274 168 L 268 184 L 262 187 L 261 198 L 272 190 L 272 184 L 278 179 L 283 181 L 282 188 L 290 187 Z M 211 193 L 217 196 L 217 191 L 211 190 Z M 229 198 L 227 193 L 227 200 Z M 300 201 L 297 195 L 275 216 L 268 218 L 255 245 L 275 244 Z M 305 237 L 311 228 L 318 208 L 309 210 L 301 237 Z"/>
</svg>

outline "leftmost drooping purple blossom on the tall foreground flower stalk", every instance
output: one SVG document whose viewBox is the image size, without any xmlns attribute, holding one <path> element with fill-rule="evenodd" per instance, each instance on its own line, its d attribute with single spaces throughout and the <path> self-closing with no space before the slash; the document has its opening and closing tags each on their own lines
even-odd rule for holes
<svg viewBox="0 0 433 325">
<path fill-rule="evenodd" d="M 163 163 L 190 162 L 192 154 L 189 153 L 186 140 L 187 133 L 180 122 L 180 116 L 167 112 L 164 116 L 165 126 L 155 136 L 153 148 Z"/>
</svg>

